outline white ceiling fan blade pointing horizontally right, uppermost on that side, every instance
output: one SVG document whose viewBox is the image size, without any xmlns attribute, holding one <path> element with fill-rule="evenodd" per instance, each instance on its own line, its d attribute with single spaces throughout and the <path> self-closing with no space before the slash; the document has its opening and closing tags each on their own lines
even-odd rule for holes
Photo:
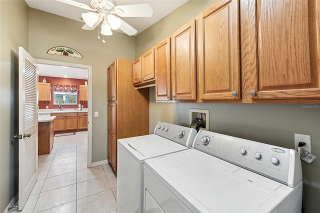
<svg viewBox="0 0 320 213">
<path fill-rule="evenodd" d="M 153 10 L 149 4 L 118 5 L 114 13 L 121 17 L 151 17 Z"/>
</svg>

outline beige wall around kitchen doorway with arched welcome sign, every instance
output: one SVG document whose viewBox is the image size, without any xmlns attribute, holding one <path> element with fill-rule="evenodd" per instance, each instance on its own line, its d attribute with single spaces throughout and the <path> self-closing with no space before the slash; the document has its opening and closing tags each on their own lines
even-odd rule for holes
<svg viewBox="0 0 320 213">
<path fill-rule="evenodd" d="M 29 9 L 29 53 L 34 58 L 92 65 L 92 162 L 106 160 L 107 151 L 107 80 L 106 68 L 116 58 L 134 59 L 135 37 L 113 32 L 97 39 L 97 31 L 81 29 L 84 23 Z M 101 36 L 101 35 L 100 35 Z M 83 58 L 47 54 L 55 46 L 67 46 L 80 52 Z"/>
</svg>

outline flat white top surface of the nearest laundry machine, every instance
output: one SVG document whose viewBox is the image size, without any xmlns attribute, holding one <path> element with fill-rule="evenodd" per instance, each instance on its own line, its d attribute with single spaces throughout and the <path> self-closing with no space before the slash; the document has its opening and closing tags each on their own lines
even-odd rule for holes
<svg viewBox="0 0 320 213">
<path fill-rule="evenodd" d="M 145 166 L 193 212 L 267 212 L 293 191 L 196 149 L 147 159 Z"/>
</svg>

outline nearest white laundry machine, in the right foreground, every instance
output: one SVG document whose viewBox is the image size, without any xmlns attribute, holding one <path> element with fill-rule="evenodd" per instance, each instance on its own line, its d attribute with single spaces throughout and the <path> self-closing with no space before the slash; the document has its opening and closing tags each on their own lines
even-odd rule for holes
<svg viewBox="0 0 320 213">
<path fill-rule="evenodd" d="M 145 212 L 301 212 L 295 150 L 205 130 L 193 147 L 145 160 Z"/>
</svg>

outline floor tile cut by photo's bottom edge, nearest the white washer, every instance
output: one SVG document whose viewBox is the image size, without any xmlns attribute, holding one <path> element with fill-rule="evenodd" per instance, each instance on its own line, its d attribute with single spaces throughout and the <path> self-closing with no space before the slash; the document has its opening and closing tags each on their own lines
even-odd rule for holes
<svg viewBox="0 0 320 213">
<path fill-rule="evenodd" d="M 77 212 L 109 212 L 116 208 L 112 190 L 103 191 L 77 200 Z"/>
</svg>

